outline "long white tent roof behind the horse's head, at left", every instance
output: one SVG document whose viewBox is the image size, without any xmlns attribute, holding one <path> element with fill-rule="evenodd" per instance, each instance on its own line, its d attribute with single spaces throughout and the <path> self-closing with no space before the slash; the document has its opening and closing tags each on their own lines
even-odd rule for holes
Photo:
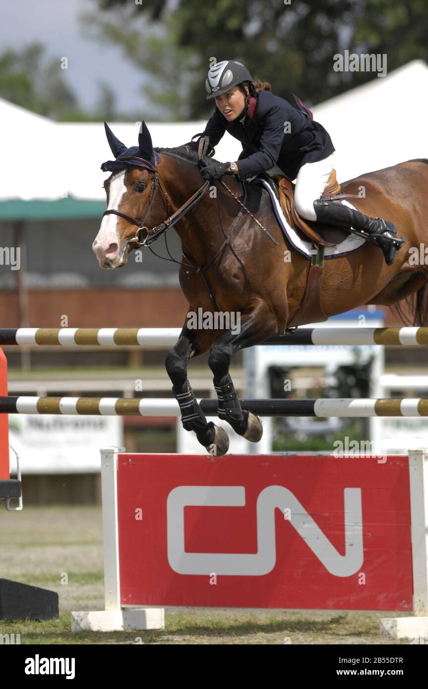
<svg viewBox="0 0 428 689">
<path fill-rule="evenodd" d="M 112 158 L 103 123 L 56 123 L 0 99 L 3 127 L 0 201 L 75 198 L 105 200 L 100 166 Z M 109 123 L 125 145 L 138 145 L 138 123 Z M 147 123 L 154 146 L 174 147 L 202 132 L 206 121 Z M 216 155 L 238 158 L 241 145 L 225 134 Z"/>
</svg>

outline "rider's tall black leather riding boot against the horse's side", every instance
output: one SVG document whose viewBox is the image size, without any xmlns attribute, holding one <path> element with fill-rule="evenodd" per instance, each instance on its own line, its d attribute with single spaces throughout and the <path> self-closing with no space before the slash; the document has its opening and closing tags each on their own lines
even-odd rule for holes
<svg viewBox="0 0 428 689">
<path fill-rule="evenodd" d="M 327 225 L 353 227 L 368 235 L 377 234 L 376 242 L 383 251 L 387 265 L 394 263 L 398 249 L 405 243 L 404 237 L 397 237 L 394 223 L 382 218 L 371 218 L 360 211 L 349 208 L 338 201 L 314 201 L 316 220 Z"/>
</svg>

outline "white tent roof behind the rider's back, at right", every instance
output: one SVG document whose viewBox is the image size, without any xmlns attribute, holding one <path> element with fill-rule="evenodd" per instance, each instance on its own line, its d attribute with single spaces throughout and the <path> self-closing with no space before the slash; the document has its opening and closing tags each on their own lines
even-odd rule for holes
<svg viewBox="0 0 428 689">
<path fill-rule="evenodd" d="M 336 148 L 339 181 L 428 158 L 428 66 L 413 60 L 313 108 Z"/>
</svg>

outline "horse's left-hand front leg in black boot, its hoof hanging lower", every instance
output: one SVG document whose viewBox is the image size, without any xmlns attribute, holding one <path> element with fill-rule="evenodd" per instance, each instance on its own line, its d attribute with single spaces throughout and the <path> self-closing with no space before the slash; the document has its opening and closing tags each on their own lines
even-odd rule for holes
<svg viewBox="0 0 428 689">
<path fill-rule="evenodd" d="M 212 339 L 210 331 L 189 330 L 184 326 L 176 345 L 167 353 L 165 367 L 173 385 L 172 392 L 179 402 L 183 428 L 186 431 L 194 431 L 198 441 L 208 452 L 221 456 L 229 449 L 227 433 L 212 421 L 207 422 L 187 380 L 187 364 L 190 358 L 207 351 Z"/>
</svg>

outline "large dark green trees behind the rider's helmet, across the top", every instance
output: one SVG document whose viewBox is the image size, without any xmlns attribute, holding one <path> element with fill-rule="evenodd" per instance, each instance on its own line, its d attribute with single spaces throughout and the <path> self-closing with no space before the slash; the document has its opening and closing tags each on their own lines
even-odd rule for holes
<svg viewBox="0 0 428 689">
<path fill-rule="evenodd" d="M 335 72 L 334 55 L 387 55 L 389 71 L 428 60 L 426 0 L 94 0 L 99 37 L 121 45 L 150 75 L 145 94 L 165 119 L 210 114 L 205 78 L 210 59 L 238 59 L 287 99 L 318 103 L 376 78 Z"/>
</svg>

